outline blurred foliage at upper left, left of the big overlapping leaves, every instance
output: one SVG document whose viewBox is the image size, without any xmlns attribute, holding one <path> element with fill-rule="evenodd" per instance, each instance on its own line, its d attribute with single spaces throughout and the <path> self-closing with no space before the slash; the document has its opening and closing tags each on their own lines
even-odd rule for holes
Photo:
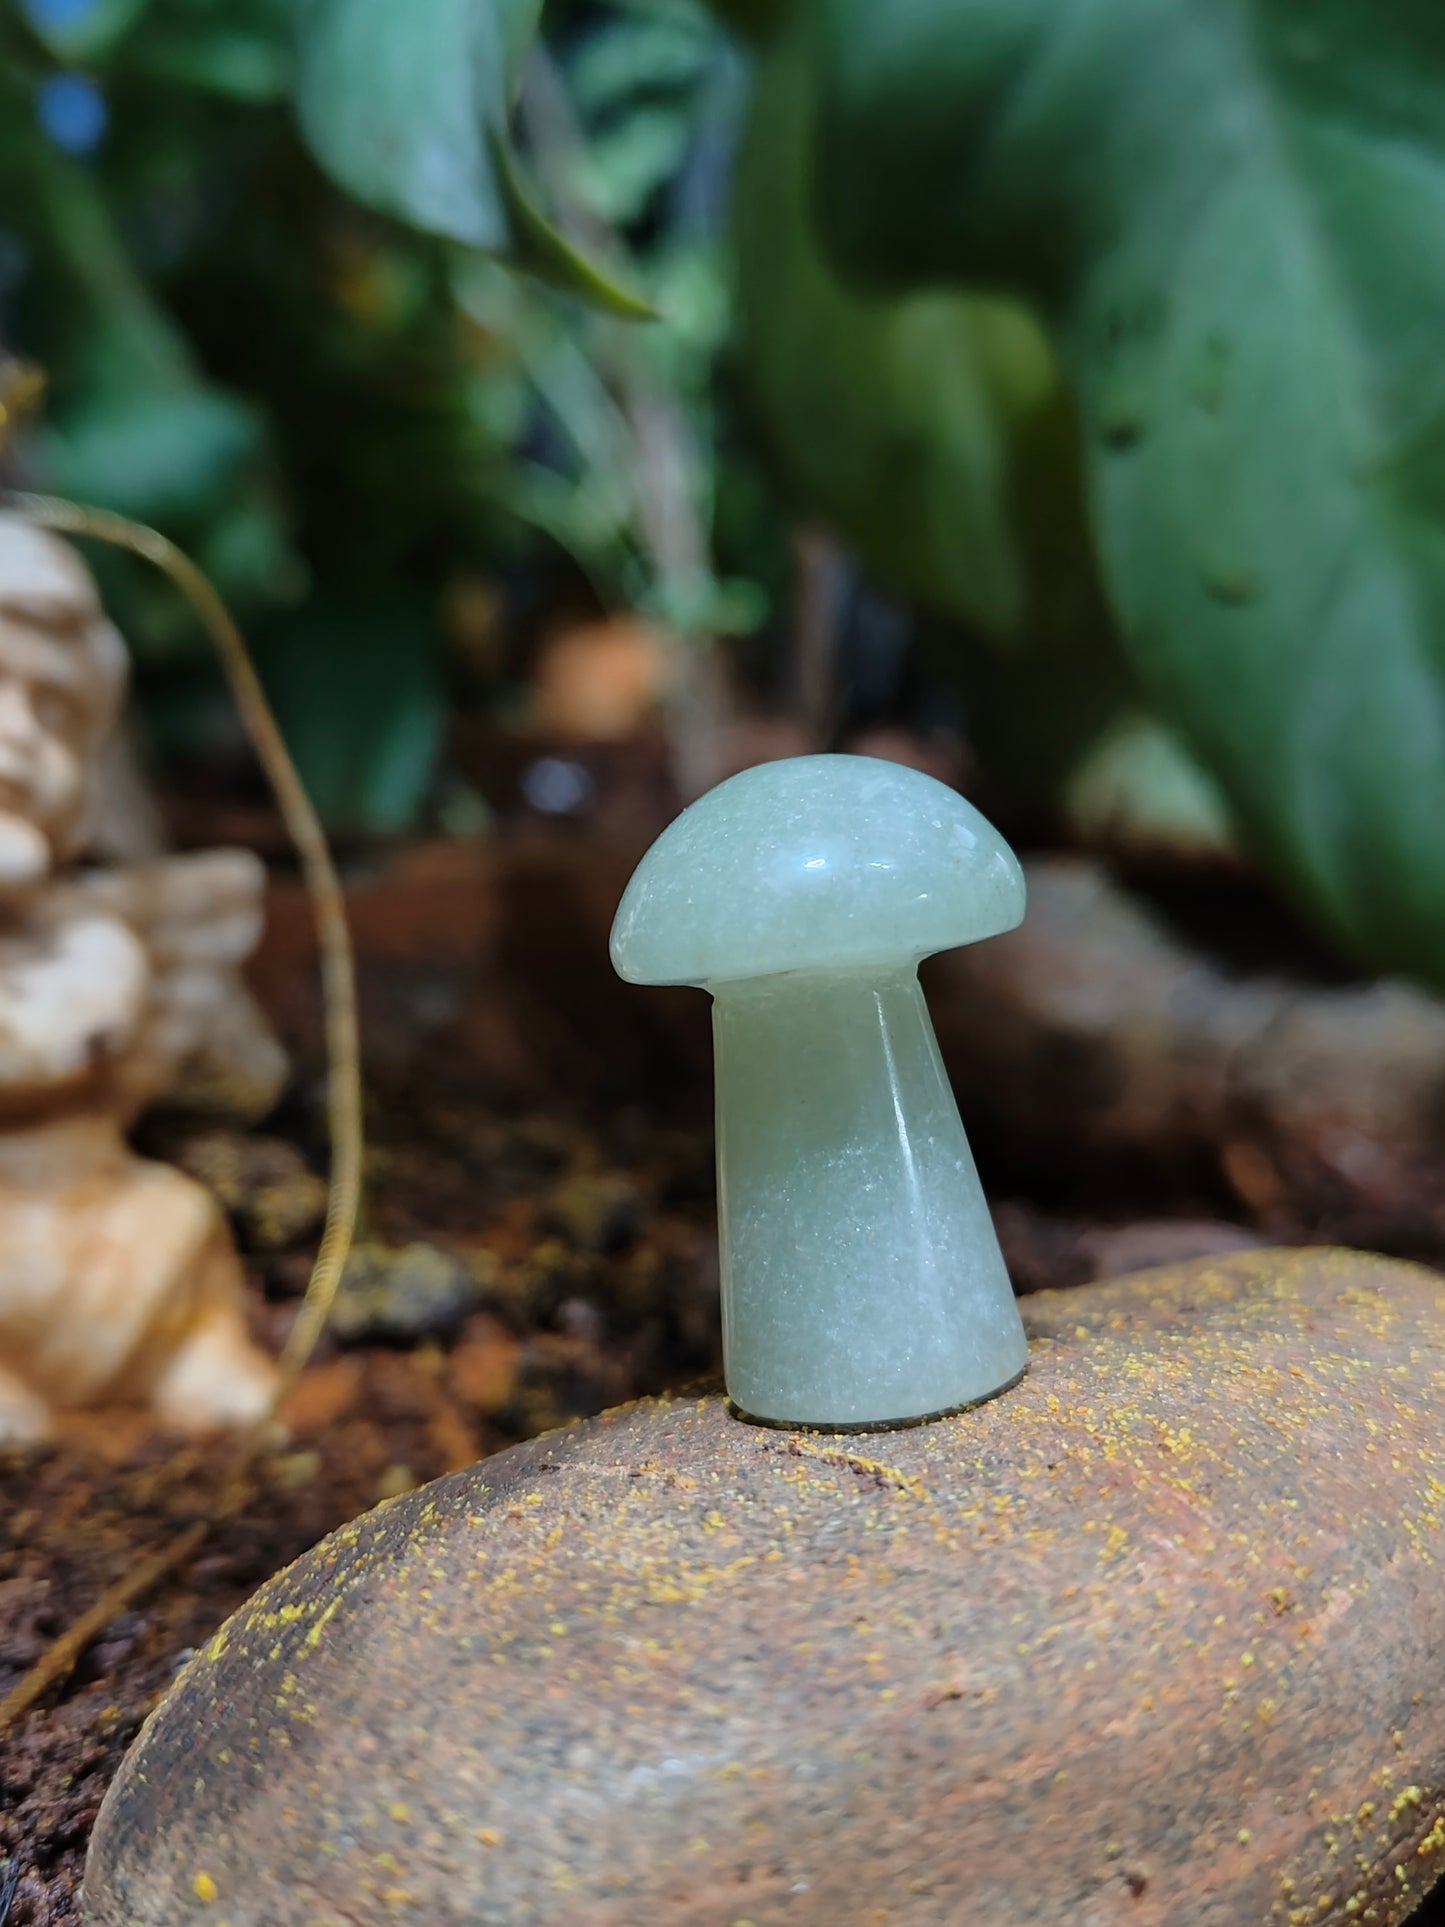
<svg viewBox="0 0 1445 1927">
<path fill-rule="evenodd" d="M 742 60 L 688 0 L 559 4 L 545 42 L 534 25 L 532 0 L 0 8 L 0 345 L 50 380 L 23 472 L 166 528 L 262 661 L 297 659 L 268 676 L 337 825 L 395 827 L 432 794 L 470 586 L 572 568 L 603 605 L 713 634 L 767 607 L 755 568 L 715 565 L 771 540 L 748 464 L 719 484 L 717 461 Z M 389 179 L 364 141 L 381 123 L 412 139 Z M 661 320 L 607 312 L 628 289 Z M 649 520 L 644 403 L 676 428 L 686 567 Z M 193 684 L 198 638 L 164 586 L 96 563 L 183 736 L 162 684 L 171 663 Z M 364 609 L 395 642 L 356 630 L 345 674 Z M 308 655 L 337 674 L 324 728 Z"/>
</svg>

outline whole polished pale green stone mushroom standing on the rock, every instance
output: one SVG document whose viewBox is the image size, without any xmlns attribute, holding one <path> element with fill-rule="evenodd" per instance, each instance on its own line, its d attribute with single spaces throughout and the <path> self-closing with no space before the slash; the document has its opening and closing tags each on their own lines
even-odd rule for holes
<svg viewBox="0 0 1445 1927">
<path fill-rule="evenodd" d="M 638 865 L 617 971 L 713 994 L 722 1349 L 748 1416 L 902 1424 L 1023 1372 L 917 981 L 921 958 L 1021 917 L 992 825 L 861 755 L 748 769 Z"/>
</svg>

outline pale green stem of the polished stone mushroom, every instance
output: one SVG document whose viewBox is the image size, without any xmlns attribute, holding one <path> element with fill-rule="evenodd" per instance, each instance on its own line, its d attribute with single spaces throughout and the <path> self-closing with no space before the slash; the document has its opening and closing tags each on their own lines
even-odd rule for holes
<svg viewBox="0 0 1445 1927">
<path fill-rule="evenodd" d="M 738 1409 L 879 1426 L 1002 1391 L 1023 1322 L 917 965 L 709 990 Z"/>
</svg>

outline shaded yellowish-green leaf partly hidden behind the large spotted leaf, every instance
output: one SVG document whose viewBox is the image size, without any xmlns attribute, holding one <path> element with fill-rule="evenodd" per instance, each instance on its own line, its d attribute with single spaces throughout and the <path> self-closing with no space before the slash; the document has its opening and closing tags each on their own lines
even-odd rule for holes
<svg viewBox="0 0 1445 1927">
<path fill-rule="evenodd" d="M 1054 356 L 1013 303 L 846 289 L 809 220 L 809 139 L 807 66 L 784 46 L 759 67 L 732 214 L 746 370 L 775 453 L 869 568 L 1015 638 L 1012 436 L 1058 407 Z"/>
</svg>

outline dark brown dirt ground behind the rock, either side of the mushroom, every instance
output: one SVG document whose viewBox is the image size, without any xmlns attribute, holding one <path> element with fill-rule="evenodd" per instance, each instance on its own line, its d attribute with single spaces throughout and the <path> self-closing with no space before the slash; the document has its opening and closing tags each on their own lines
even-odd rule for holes
<svg viewBox="0 0 1445 1927">
<path fill-rule="evenodd" d="M 719 1370 L 701 998 L 676 1027 L 638 1016 L 630 1029 L 618 1012 L 647 1006 L 611 1002 L 597 917 L 578 913 L 578 950 L 566 933 L 551 950 L 516 950 L 499 904 L 445 863 L 407 888 L 358 904 L 366 1264 L 341 1333 L 304 1372 L 241 1513 L 0 1734 L 0 1927 L 77 1919 L 85 1842 L 123 1750 L 187 1653 L 281 1565 L 380 1497 Z M 518 888 L 534 925 L 555 915 L 536 908 L 545 879 Z M 308 1274 L 324 1156 L 308 937 L 287 892 L 258 987 L 299 1043 L 287 1106 L 260 1137 L 170 1120 L 148 1143 L 218 1189 L 249 1258 L 256 1332 L 279 1347 Z M 1293 1218 L 1277 1199 L 1252 1210 L 1193 1175 L 1052 1170 L 1033 1183 L 1027 1162 L 990 1164 L 975 1145 L 1019 1289 L 1351 1229 L 1306 1202 Z M 1408 1201 L 1393 1243 L 1441 1262 L 1439 1224 L 1437 1195 Z M 1391 1241 L 1389 1224 L 1372 1231 Z M 225 1447 L 158 1438 L 143 1414 L 0 1453 L 0 1696 L 137 1555 L 208 1515 L 227 1463 Z M 1418 1921 L 1445 1927 L 1445 1904 Z"/>
</svg>

